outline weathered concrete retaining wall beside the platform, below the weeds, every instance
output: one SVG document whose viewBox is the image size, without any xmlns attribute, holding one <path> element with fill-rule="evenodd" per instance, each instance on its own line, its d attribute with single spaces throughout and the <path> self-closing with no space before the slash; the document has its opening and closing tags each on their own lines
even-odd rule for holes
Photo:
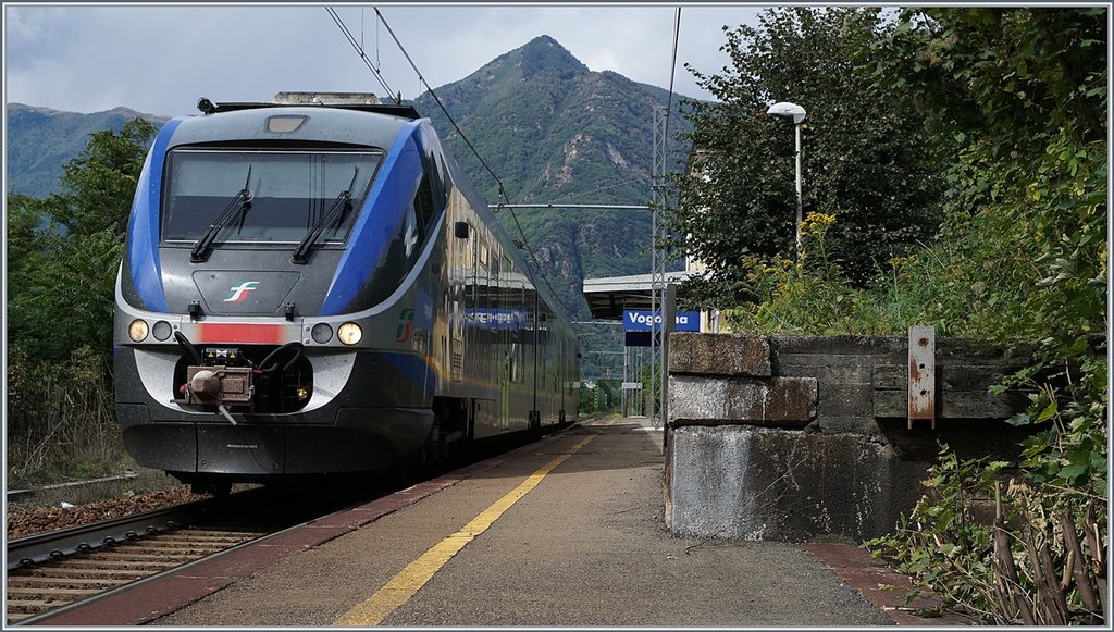
<svg viewBox="0 0 1114 632">
<path fill-rule="evenodd" d="M 962 340 L 936 343 L 937 420 L 907 419 L 908 340 L 670 338 L 666 519 L 707 537 L 862 541 L 892 531 L 948 443 L 1008 457 L 1020 393 L 987 387 L 1024 364 Z"/>
</svg>

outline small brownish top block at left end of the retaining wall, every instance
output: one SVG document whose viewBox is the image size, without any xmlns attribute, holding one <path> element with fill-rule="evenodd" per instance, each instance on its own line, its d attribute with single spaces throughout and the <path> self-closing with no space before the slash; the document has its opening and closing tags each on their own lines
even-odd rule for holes
<svg viewBox="0 0 1114 632">
<path fill-rule="evenodd" d="M 769 378 L 770 344 L 761 336 L 675 332 L 670 373 Z"/>
</svg>

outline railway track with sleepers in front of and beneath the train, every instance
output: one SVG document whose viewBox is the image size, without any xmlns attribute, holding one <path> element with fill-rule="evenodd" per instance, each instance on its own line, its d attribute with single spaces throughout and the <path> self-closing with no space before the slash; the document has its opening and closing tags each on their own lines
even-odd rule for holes
<svg viewBox="0 0 1114 632">
<path fill-rule="evenodd" d="M 261 488 L 8 542 L 7 624 L 228 551 L 312 519 L 348 499 L 292 503 Z"/>
</svg>

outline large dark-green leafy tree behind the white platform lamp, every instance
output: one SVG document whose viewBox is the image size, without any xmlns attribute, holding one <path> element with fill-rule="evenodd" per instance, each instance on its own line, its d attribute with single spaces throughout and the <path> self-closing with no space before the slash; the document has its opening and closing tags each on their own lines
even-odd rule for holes
<svg viewBox="0 0 1114 632">
<path fill-rule="evenodd" d="M 862 283 L 935 231 L 940 183 L 925 121 L 896 86 L 856 71 L 854 55 L 883 28 L 879 9 L 775 8 L 760 26 L 724 31 L 732 67 L 698 84 L 719 103 L 690 103 L 691 171 L 673 179 L 675 245 L 703 261 L 697 295 L 725 307 L 755 299 L 745 254 L 789 255 L 797 215 L 791 124 L 779 100 L 808 111 L 802 126 L 804 212 L 833 215 L 831 256 Z"/>
</svg>

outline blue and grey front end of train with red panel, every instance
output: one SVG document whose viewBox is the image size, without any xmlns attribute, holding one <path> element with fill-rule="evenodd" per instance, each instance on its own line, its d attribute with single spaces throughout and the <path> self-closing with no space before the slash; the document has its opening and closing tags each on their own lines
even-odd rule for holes
<svg viewBox="0 0 1114 632">
<path fill-rule="evenodd" d="M 138 464 L 222 488 L 421 449 L 441 288 L 414 117 L 212 106 L 163 127 L 117 281 L 117 418 Z"/>
</svg>

